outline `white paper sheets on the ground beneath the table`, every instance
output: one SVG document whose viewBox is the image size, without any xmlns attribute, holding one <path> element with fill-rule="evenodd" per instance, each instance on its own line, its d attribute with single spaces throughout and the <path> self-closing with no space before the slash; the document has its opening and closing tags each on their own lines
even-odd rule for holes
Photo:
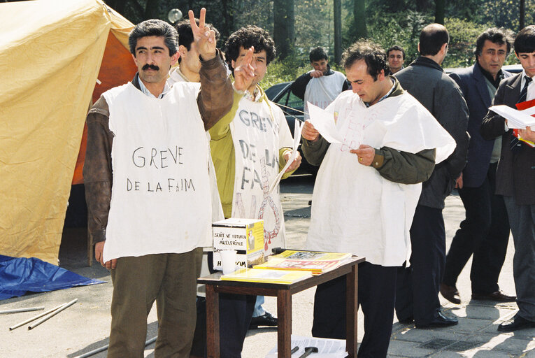
<svg viewBox="0 0 535 358">
<path fill-rule="evenodd" d="M 318 353 L 313 353 L 309 357 L 314 358 L 344 358 L 348 356 L 345 352 L 345 339 L 330 339 L 330 338 L 313 338 L 296 336 L 292 334 L 292 348 L 299 347 L 297 352 L 294 352 L 292 357 L 301 357 L 304 354 L 306 347 L 318 348 Z M 266 358 L 277 358 L 278 349 L 273 348 L 266 355 Z"/>
</svg>

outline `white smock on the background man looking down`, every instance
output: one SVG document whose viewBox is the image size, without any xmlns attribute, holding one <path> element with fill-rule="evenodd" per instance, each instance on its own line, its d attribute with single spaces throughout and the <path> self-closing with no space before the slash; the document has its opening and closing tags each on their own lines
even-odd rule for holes
<svg viewBox="0 0 535 358">
<path fill-rule="evenodd" d="M 322 109 L 327 108 L 342 92 L 345 76 L 334 71 L 332 75 L 311 78 L 305 89 L 305 120 L 308 120 L 308 102 Z"/>
</svg>

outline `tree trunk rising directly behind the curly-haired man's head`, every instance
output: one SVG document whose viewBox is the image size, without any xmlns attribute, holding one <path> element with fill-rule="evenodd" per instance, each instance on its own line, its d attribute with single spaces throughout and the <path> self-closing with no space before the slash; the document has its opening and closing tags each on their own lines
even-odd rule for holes
<svg viewBox="0 0 535 358">
<path fill-rule="evenodd" d="M 273 41 L 280 59 L 285 59 L 292 52 L 294 22 L 294 0 L 273 0 Z"/>
</svg>

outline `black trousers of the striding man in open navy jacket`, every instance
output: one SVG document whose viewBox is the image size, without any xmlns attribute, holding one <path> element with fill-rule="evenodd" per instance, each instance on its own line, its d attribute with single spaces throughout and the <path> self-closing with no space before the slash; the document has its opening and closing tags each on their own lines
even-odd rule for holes
<svg viewBox="0 0 535 358">
<path fill-rule="evenodd" d="M 473 253 L 470 280 L 472 292 L 476 294 L 491 294 L 499 290 L 498 278 L 509 241 L 504 197 L 494 194 L 496 167 L 496 163 L 490 164 L 487 178 L 480 187 L 459 189 L 466 219 L 453 236 L 442 280 L 445 285 L 455 286 L 457 277 Z"/>
</svg>

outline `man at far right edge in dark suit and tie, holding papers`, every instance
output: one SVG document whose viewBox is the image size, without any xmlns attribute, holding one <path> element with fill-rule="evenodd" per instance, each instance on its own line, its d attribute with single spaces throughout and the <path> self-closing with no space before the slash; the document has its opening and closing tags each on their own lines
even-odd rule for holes
<svg viewBox="0 0 535 358">
<path fill-rule="evenodd" d="M 515 38 L 515 55 L 522 73 L 501 81 L 493 105 L 515 108 L 516 103 L 535 99 L 535 25 L 522 29 Z M 535 141 L 530 127 L 518 130 L 527 141 Z M 485 139 L 501 136 L 501 157 L 496 175 L 496 194 L 504 196 L 515 242 L 513 277 L 519 311 L 502 322 L 498 331 L 535 327 L 535 148 L 518 141 L 507 120 L 489 111 L 481 124 Z"/>
</svg>

